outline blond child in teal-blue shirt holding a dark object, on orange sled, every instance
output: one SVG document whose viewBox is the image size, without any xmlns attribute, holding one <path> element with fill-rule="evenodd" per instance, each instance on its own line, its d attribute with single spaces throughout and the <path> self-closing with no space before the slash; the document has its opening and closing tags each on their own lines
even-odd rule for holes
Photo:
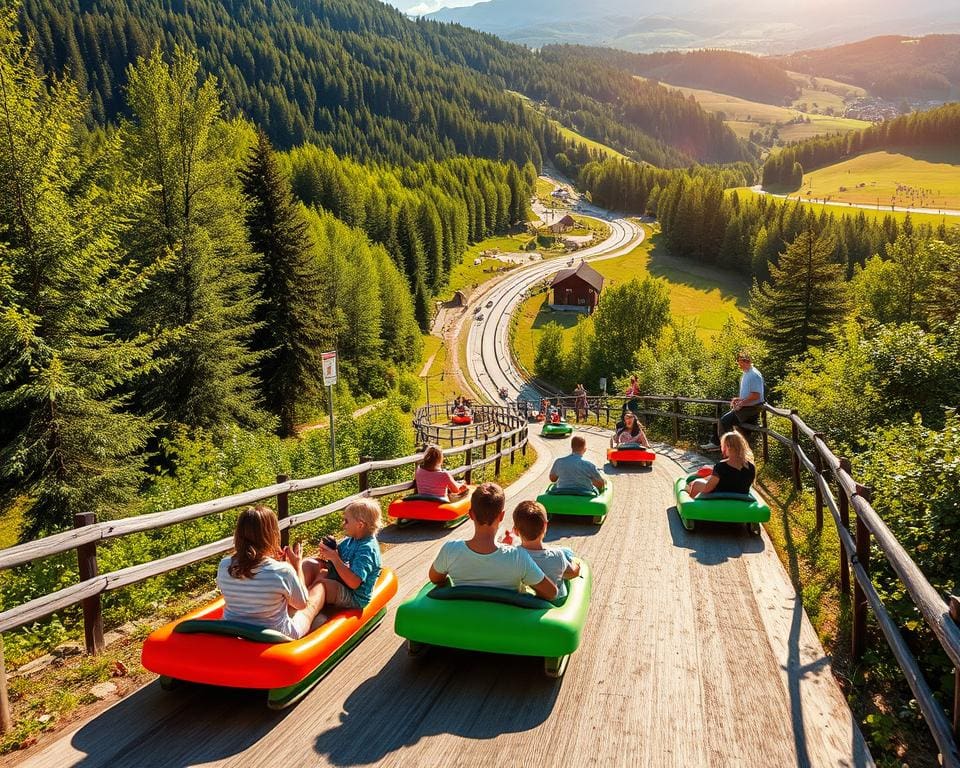
<svg viewBox="0 0 960 768">
<path fill-rule="evenodd" d="M 318 581 L 324 588 L 324 607 L 363 610 L 373 596 L 380 576 L 380 504 L 374 499 L 359 499 L 343 511 L 343 532 L 337 546 L 320 544 L 320 557 L 304 561 L 308 583 Z M 326 567 L 320 560 L 326 560 Z M 314 577 L 317 578 L 314 578 Z"/>
</svg>

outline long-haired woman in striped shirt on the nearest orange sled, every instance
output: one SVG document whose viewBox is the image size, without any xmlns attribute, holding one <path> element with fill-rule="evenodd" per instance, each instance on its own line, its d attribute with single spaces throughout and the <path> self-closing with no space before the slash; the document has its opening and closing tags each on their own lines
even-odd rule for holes
<svg viewBox="0 0 960 768">
<path fill-rule="evenodd" d="M 233 547 L 233 555 L 217 568 L 217 587 L 226 603 L 223 618 L 275 629 L 293 639 L 307 634 L 324 603 L 321 575 L 310 569 L 305 577 L 299 543 L 281 549 L 274 511 L 262 505 L 243 510 Z"/>
</svg>

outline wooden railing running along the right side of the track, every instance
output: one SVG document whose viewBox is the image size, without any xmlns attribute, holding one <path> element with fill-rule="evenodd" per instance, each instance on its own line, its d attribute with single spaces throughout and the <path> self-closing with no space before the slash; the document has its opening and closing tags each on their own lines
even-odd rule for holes
<svg viewBox="0 0 960 768">
<path fill-rule="evenodd" d="M 565 416 L 574 416 L 575 397 L 552 398 L 552 401 L 559 404 Z M 588 421 L 595 420 L 598 425 L 612 427 L 619 421 L 626 404 L 631 401 L 634 401 L 634 408 L 641 416 L 668 421 L 674 442 L 681 439 L 682 421 L 713 425 L 730 406 L 726 400 L 676 395 L 590 397 Z M 533 407 L 535 406 L 532 404 L 519 405 L 521 413 Z M 771 418 L 787 422 L 790 434 L 772 429 L 769 426 Z M 802 487 L 804 470 L 810 474 L 818 529 L 823 527 L 824 508 L 830 511 L 840 538 L 840 590 L 845 595 L 850 594 L 850 574 L 853 574 L 851 654 L 854 661 L 860 661 L 867 648 L 869 609 L 873 611 L 877 625 L 913 692 L 940 750 L 942 765 L 960 768 L 960 600 L 952 595 L 945 599 L 934 589 L 871 505 L 872 489 L 853 478 L 849 459 L 834 455 L 824 435 L 811 429 L 796 411 L 764 405 L 758 423 L 747 425 L 745 429 L 757 434 L 764 459 L 769 456 L 770 440 L 787 449 L 796 489 Z M 694 432 L 692 439 L 696 440 L 698 436 L 699 430 Z M 851 511 L 855 515 L 852 531 Z M 952 722 L 934 696 L 916 656 L 900 634 L 896 622 L 884 606 L 871 580 L 871 543 L 875 544 L 903 583 L 913 604 L 954 665 Z"/>
</svg>

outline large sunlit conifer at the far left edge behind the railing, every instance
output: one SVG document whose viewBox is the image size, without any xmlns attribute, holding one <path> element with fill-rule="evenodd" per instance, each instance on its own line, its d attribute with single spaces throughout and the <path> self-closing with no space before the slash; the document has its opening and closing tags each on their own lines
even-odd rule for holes
<svg viewBox="0 0 960 768">
<path fill-rule="evenodd" d="M 37 75 L 12 13 L 0 84 L 0 501 L 25 506 L 31 539 L 77 512 L 126 511 L 153 423 L 125 411 L 122 389 L 155 347 L 112 327 L 148 277 L 120 245 L 141 190 L 81 157 L 77 90 Z"/>
</svg>

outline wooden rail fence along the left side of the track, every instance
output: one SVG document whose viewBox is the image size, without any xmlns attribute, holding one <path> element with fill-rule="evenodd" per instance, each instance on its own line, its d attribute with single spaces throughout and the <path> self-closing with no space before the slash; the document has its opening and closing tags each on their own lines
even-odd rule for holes
<svg viewBox="0 0 960 768">
<path fill-rule="evenodd" d="M 444 449 L 444 455 L 446 456 L 463 455 L 462 466 L 451 468 L 450 471 L 454 475 L 463 476 L 467 483 L 471 481 L 473 473 L 481 467 L 492 464 L 494 474 L 499 474 L 503 459 L 508 458 L 513 463 L 517 451 L 522 454 L 526 453 L 527 422 L 516 412 L 516 409 L 497 406 L 485 406 L 484 408 L 489 416 L 485 423 L 492 425 L 488 426 L 488 429 L 495 433 L 484 439 L 472 440 L 463 445 Z M 496 413 L 493 413 L 494 411 Z M 487 450 L 490 447 L 493 447 L 493 452 L 487 455 Z M 190 504 L 179 509 L 128 517 L 121 520 L 97 522 L 92 514 L 77 515 L 76 527 L 73 530 L 0 550 L 0 570 L 15 568 L 40 558 L 76 550 L 80 574 L 80 580 L 77 584 L 0 612 L 0 632 L 22 627 L 56 611 L 80 603 L 83 606 L 84 638 L 87 651 L 89 653 L 99 653 L 104 647 L 100 606 L 100 596 L 102 594 L 221 555 L 232 548 L 233 538 L 211 541 L 185 552 L 178 552 L 158 560 L 104 574 L 99 573 L 97 566 L 97 545 L 100 542 L 133 533 L 155 531 L 188 520 L 219 514 L 237 507 L 275 498 L 277 516 L 280 518 L 281 537 L 283 543 L 286 544 L 289 541 L 289 531 L 295 526 L 339 512 L 352 501 L 360 498 L 388 496 L 413 488 L 412 480 L 371 488 L 369 483 L 370 473 L 410 466 L 410 477 L 412 478 L 413 465 L 419 462 L 421 458 L 422 454 L 385 461 L 361 459 L 361 463 L 356 466 L 302 480 L 290 480 L 285 475 L 280 475 L 277 477 L 275 485 L 232 496 L 224 496 L 199 504 Z M 323 488 L 351 478 L 357 479 L 356 493 L 316 509 L 296 515 L 288 514 L 291 494 Z M 0 644 L 0 727 L 3 730 L 10 727 L 2 644 Z"/>
</svg>

